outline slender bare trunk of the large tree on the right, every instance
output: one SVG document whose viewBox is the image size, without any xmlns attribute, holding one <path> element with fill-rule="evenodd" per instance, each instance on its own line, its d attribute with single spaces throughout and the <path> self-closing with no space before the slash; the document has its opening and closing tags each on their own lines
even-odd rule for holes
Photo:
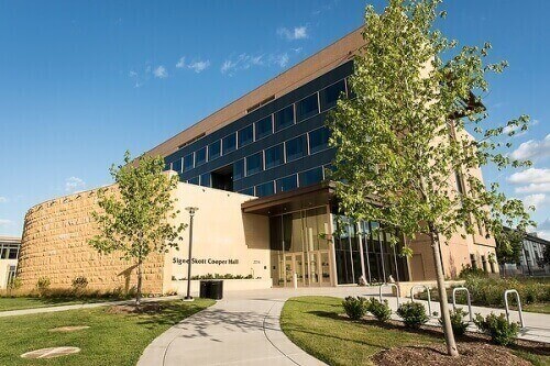
<svg viewBox="0 0 550 366">
<path fill-rule="evenodd" d="M 436 277 L 438 281 L 439 304 L 441 308 L 441 319 L 443 321 L 443 333 L 446 336 L 447 354 L 452 357 L 459 356 L 459 348 L 454 341 L 454 333 L 451 326 L 451 315 L 449 314 L 449 302 L 447 301 L 447 289 L 443 277 L 443 264 L 441 263 L 441 255 L 439 248 L 439 236 L 435 231 L 433 225 L 430 225 L 431 233 L 431 248 L 433 254 L 433 262 L 436 263 Z"/>
</svg>

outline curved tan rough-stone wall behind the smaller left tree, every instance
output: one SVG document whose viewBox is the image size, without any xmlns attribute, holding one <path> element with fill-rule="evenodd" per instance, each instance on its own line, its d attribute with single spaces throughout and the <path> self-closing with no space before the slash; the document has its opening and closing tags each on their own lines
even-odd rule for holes
<svg viewBox="0 0 550 366">
<path fill-rule="evenodd" d="M 29 210 L 25 217 L 18 276 L 23 288 L 48 277 L 52 288 L 69 288 L 77 276 L 85 276 L 88 288 L 112 290 L 136 284 L 131 262 L 120 253 L 100 255 L 88 245 L 97 229 L 90 213 L 97 210 L 97 190 L 54 199 Z M 144 292 L 163 290 L 163 256 L 154 254 L 144 265 Z"/>
</svg>

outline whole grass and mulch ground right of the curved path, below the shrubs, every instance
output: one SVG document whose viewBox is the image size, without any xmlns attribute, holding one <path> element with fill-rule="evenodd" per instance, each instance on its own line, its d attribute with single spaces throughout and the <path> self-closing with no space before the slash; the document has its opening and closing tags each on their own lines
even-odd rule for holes
<svg viewBox="0 0 550 366">
<path fill-rule="evenodd" d="M 440 328 L 409 330 L 398 321 L 380 323 L 370 317 L 352 321 L 343 313 L 339 298 L 293 298 L 283 308 L 280 325 L 294 343 L 329 365 L 483 365 L 476 357 L 490 354 L 487 365 L 550 364 L 550 347 L 541 343 L 518 341 L 506 348 L 490 344 L 483 334 L 466 333 L 458 337 L 463 355 L 451 358 L 444 355 Z M 398 358 L 399 354 L 407 358 Z"/>
</svg>

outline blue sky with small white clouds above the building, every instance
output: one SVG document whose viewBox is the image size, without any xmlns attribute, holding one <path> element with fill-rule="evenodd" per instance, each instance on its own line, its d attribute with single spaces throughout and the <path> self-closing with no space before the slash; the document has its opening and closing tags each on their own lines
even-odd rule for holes
<svg viewBox="0 0 550 366">
<path fill-rule="evenodd" d="M 20 235 L 30 207 L 110 182 L 125 149 L 150 149 L 356 29 L 366 3 L 0 1 L 0 234 Z M 535 166 L 485 179 L 536 204 L 550 237 L 550 2 L 442 9 L 446 34 L 491 41 L 493 59 L 510 64 L 485 103 L 494 125 L 536 121 L 512 138 Z"/>
</svg>

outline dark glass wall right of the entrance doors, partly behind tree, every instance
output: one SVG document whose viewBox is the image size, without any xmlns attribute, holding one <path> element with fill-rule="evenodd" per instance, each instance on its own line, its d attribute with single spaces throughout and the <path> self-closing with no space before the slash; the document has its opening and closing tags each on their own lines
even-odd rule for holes
<svg viewBox="0 0 550 366">
<path fill-rule="evenodd" d="M 407 260 L 399 255 L 402 243 L 392 245 L 393 234 L 380 231 L 377 222 L 354 222 L 333 214 L 338 284 L 369 284 L 408 280 Z"/>
</svg>

